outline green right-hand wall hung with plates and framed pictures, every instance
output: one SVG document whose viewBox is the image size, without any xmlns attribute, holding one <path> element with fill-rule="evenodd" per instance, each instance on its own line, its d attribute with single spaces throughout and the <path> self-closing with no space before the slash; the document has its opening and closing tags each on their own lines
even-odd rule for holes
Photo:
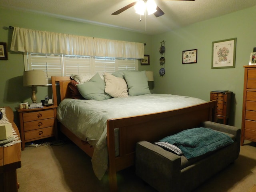
<svg viewBox="0 0 256 192">
<path fill-rule="evenodd" d="M 154 92 L 186 95 L 210 100 L 212 90 L 230 90 L 232 116 L 230 124 L 241 127 L 244 65 L 256 47 L 256 6 L 190 26 L 158 34 L 153 38 L 152 60 Z M 212 42 L 237 38 L 236 67 L 211 69 Z M 165 40 L 166 75 L 160 77 L 160 42 Z M 182 51 L 198 49 L 196 64 L 182 64 Z"/>
</svg>

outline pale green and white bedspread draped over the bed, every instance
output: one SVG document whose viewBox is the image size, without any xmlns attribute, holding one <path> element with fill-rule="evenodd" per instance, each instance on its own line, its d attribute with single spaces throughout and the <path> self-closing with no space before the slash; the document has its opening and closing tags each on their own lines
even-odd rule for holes
<svg viewBox="0 0 256 192">
<path fill-rule="evenodd" d="M 80 139 L 94 145 L 92 167 L 98 179 L 107 170 L 106 120 L 178 109 L 206 101 L 170 94 L 146 94 L 103 101 L 64 99 L 58 120 Z"/>
</svg>

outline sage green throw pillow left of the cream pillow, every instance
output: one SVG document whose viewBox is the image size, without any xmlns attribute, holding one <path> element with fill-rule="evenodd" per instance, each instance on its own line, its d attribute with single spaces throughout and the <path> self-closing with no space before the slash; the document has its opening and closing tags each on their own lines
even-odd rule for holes
<svg viewBox="0 0 256 192">
<path fill-rule="evenodd" d="M 94 99 L 97 101 L 110 99 L 111 96 L 104 92 L 105 82 L 96 73 L 88 82 L 77 84 L 78 91 L 85 99 Z"/>
</svg>

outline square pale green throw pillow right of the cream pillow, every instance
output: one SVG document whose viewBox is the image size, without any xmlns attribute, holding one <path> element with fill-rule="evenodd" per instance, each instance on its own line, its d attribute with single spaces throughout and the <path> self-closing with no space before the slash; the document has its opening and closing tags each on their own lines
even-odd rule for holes
<svg viewBox="0 0 256 192">
<path fill-rule="evenodd" d="M 124 72 L 127 82 L 129 95 L 144 95 L 150 93 L 148 80 L 145 71 Z"/>
</svg>

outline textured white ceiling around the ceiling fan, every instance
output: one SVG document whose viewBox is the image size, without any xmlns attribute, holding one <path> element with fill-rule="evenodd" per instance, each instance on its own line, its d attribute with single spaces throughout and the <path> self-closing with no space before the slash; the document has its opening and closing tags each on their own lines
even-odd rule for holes
<svg viewBox="0 0 256 192">
<path fill-rule="evenodd" d="M 0 6 L 38 12 L 57 18 L 123 28 L 146 34 L 160 34 L 177 27 L 222 16 L 256 5 L 256 0 L 155 0 L 164 11 L 156 18 L 154 14 L 140 16 L 134 7 L 119 15 L 116 10 L 135 0 L 0 0 Z"/>
</svg>

